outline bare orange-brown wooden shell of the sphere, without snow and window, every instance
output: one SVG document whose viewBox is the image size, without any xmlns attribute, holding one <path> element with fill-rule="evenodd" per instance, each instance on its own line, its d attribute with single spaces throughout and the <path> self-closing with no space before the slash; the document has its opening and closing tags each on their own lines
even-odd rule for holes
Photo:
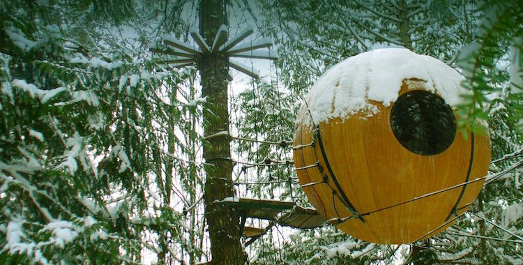
<svg viewBox="0 0 523 265">
<path fill-rule="evenodd" d="M 426 81 L 404 79 L 398 90 L 398 97 L 409 91 L 427 91 Z M 430 93 L 439 96 L 437 89 Z M 294 163 L 305 194 L 327 220 L 364 241 L 410 243 L 443 231 L 469 209 L 483 186 L 484 180 L 460 184 L 487 174 L 489 137 L 471 132 L 464 137 L 457 132 L 441 153 L 418 154 L 405 148 L 391 128 L 394 104 L 372 104 L 377 107 L 372 115 L 357 112 L 317 123 L 323 150 L 316 128 L 303 122 L 310 120 L 310 110 L 301 109 L 294 135 Z M 365 222 L 350 218 L 340 191 L 359 214 L 384 210 L 364 215 Z M 336 222 L 343 218 L 348 219 Z"/>
</svg>

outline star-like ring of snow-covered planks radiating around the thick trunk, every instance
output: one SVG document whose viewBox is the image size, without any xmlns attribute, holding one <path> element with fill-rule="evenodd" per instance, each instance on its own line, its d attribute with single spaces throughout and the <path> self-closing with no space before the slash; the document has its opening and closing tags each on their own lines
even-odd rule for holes
<svg viewBox="0 0 523 265">
<path fill-rule="evenodd" d="M 173 57 L 162 61 L 162 63 L 174 64 L 174 67 L 185 67 L 195 64 L 199 56 L 202 54 L 211 52 L 225 52 L 229 57 L 229 66 L 249 75 L 255 79 L 259 78 L 258 70 L 253 67 L 245 66 L 243 63 L 230 59 L 231 57 L 238 58 L 252 58 L 252 59 L 268 59 L 278 60 L 278 53 L 271 50 L 258 50 L 261 48 L 268 48 L 273 45 L 271 38 L 261 38 L 252 42 L 240 43 L 242 40 L 247 38 L 254 32 L 252 26 L 248 25 L 243 31 L 238 33 L 236 36 L 227 40 L 227 27 L 222 25 L 213 41 L 213 45 L 209 47 L 202 35 L 197 29 L 191 29 L 189 31 L 190 36 L 195 40 L 195 45 L 184 43 L 181 40 L 173 38 L 168 34 L 162 36 L 163 45 L 153 44 L 149 47 L 149 50 L 158 54 L 172 55 Z M 232 77 L 229 74 L 229 80 Z"/>
</svg>

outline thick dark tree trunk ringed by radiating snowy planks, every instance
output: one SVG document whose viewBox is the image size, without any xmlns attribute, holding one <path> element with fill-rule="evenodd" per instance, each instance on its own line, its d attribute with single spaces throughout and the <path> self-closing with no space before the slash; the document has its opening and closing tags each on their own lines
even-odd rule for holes
<svg viewBox="0 0 523 265">
<path fill-rule="evenodd" d="M 199 31 L 209 46 L 213 44 L 220 25 L 227 24 L 223 0 L 202 0 L 199 6 Z M 198 62 L 202 77 L 204 135 L 229 130 L 227 105 L 227 56 L 218 52 L 204 54 Z M 229 137 L 210 137 L 204 145 L 206 165 L 205 214 L 211 239 L 212 264 L 245 264 L 240 243 L 240 225 L 236 210 L 220 206 L 216 201 L 234 196 Z"/>
</svg>

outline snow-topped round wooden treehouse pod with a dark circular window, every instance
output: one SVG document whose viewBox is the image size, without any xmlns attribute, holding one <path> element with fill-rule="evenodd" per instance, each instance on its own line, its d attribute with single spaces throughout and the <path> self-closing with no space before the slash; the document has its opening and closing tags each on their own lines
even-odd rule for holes
<svg viewBox="0 0 523 265">
<path fill-rule="evenodd" d="M 483 186 L 473 180 L 487 174 L 490 139 L 456 130 L 462 80 L 406 49 L 358 54 L 321 76 L 294 134 L 296 172 L 317 211 L 351 236 L 386 244 L 441 232 L 467 211 Z"/>
</svg>

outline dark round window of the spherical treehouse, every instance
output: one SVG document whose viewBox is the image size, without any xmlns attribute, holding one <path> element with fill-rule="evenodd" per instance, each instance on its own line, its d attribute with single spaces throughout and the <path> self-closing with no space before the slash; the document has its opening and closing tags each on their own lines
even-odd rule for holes
<svg viewBox="0 0 523 265">
<path fill-rule="evenodd" d="M 453 143 L 456 119 L 443 98 L 415 90 L 397 98 L 391 112 L 391 128 L 406 149 L 433 156 Z"/>
</svg>

